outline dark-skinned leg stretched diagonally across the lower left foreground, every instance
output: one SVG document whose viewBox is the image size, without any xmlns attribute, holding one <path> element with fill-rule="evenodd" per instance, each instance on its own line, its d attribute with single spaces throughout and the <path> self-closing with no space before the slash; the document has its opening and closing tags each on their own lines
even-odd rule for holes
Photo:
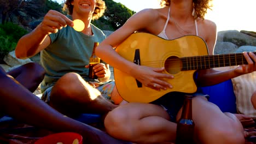
<svg viewBox="0 0 256 144">
<path fill-rule="evenodd" d="M 0 67 L 0 111 L 5 114 L 34 127 L 55 132 L 72 131 L 79 133 L 83 136 L 85 143 L 128 143 L 114 139 L 90 125 L 63 116 L 13 80 Z"/>
</svg>

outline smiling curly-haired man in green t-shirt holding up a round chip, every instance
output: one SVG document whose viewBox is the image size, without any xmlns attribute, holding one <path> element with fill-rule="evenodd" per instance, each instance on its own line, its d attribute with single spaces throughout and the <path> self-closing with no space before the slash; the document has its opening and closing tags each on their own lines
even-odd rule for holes
<svg viewBox="0 0 256 144">
<path fill-rule="evenodd" d="M 105 114 L 118 104 L 119 98 L 114 81 L 110 77 L 109 65 L 100 63 L 94 68 L 100 85 L 92 87 L 88 82 L 89 58 L 95 42 L 106 35 L 92 25 L 105 10 L 102 0 L 66 0 L 64 9 L 68 16 L 50 10 L 31 33 L 22 37 L 16 46 L 16 57 L 27 58 L 40 52 L 40 64 L 46 71 L 41 84 L 42 99 L 67 116 L 80 113 Z M 75 31 L 73 20 L 84 22 L 83 31 Z M 112 103 L 114 101 L 114 104 Z"/>
</svg>

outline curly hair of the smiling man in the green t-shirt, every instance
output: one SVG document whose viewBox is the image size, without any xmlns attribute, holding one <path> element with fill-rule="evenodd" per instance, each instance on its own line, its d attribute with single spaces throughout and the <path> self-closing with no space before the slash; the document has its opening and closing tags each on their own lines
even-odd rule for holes
<svg viewBox="0 0 256 144">
<path fill-rule="evenodd" d="M 73 14 L 74 6 L 71 4 L 74 0 L 66 0 L 65 5 L 63 7 L 63 11 L 68 11 L 69 15 Z M 106 9 L 105 2 L 102 0 L 96 0 L 96 7 L 94 10 L 94 14 L 92 15 L 92 20 L 97 20 L 100 18 Z"/>
</svg>

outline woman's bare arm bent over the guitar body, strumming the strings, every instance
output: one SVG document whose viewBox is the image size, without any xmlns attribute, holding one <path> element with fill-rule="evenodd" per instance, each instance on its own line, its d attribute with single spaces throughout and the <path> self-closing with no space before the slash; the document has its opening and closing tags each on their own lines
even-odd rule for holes
<svg viewBox="0 0 256 144">
<path fill-rule="evenodd" d="M 114 68 L 135 77 L 137 80 L 141 81 L 143 85 L 160 90 L 160 88 L 166 89 L 171 87 L 170 83 L 167 83 L 161 78 L 170 79 L 173 77 L 172 75 L 160 73 L 164 68 L 151 68 L 134 64 L 118 55 L 113 49 L 113 47 L 116 47 L 135 31 L 144 30 L 152 32 L 153 27 L 155 27 L 155 23 L 152 23 L 152 21 L 158 19 L 158 13 L 155 11 L 157 10 L 146 9 L 130 17 L 121 28 L 109 35 L 107 39 L 97 46 L 96 55 Z M 151 23 L 151 25 L 149 23 Z M 154 83 L 158 84 L 158 87 L 153 87 Z"/>
</svg>

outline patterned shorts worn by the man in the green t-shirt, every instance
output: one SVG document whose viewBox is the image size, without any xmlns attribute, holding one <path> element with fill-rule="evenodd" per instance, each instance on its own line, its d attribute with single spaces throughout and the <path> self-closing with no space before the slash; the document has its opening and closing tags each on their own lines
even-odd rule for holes
<svg viewBox="0 0 256 144">
<path fill-rule="evenodd" d="M 114 86 L 115 86 L 115 82 L 109 81 L 109 82 L 101 83 L 100 85 L 97 85 L 95 88 L 101 92 L 102 97 L 104 97 L 107 100 L 109 100 L 110 102 L 112 102 L 110 100 L 110 96 L 114 89 Z M 44 93 L 42 94 L 42 100 L 44 100 L 46 103 L 49 103 L 49 101 L 50 101 L 50 95 L 51 95 L 52 88 L 53 88 L 53 86 L 45 89 Z"/>
</svg>

